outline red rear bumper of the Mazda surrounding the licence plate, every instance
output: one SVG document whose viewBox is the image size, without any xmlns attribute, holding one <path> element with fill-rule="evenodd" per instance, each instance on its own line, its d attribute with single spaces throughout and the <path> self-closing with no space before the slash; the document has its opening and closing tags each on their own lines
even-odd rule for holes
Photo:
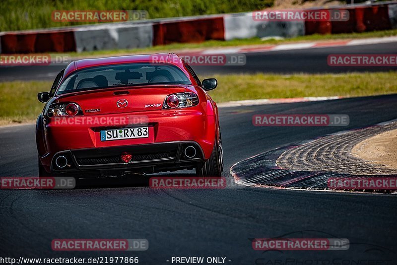
<svg viewBox="0 0 397 265">
<path fill-rule="evenodd" d="M 153 149 L 153 152 L 157 150 L 157 153 L 161 153 L 162 151 L 160 149 L 162 149 L 163 146 L 167 146 L 167 148 L 171 147 L 173 150 L 178 147 L 175 147 L 174 144 L 169 145 L 169 143 L 176 142 L 176 145 L 178 145 L 178 143 L 181 142 L 194 142 L 199 146 L 202 154 L 201 159 L 206 160 L 210 157 L 214 146 L 217 122 L 216 116 L 213 115 L 213 113 L 211 113 L 212 115 L 207 115 L 208 111 L 204 111 L 203 109 L 204 108 L 198 106 L 196 108 L 186 110 L 149 111 L 127 113 L 123 115 L 109 114 L 91 116 L 98 117 L 99 119 L 117 117 L 119 119 L 124 118 L 127 121 L 133 121 L 133 123 L 127 125 L 114 125 L 108 123 L 70 124 L 67 122 L 67 118 L 56 122 L 54 118 L 40 115 L 36 126 L 36 140 L 39 157 L 46 171 L 50 172 L 55 170 L 55 167 L 53 166 L 55 155 L 61 152 L 65 152 L 66 154 L 69 153 L 71 161 L 74 162 L 74 170 L 81 171 L 87 170 L 91 164 L 89 164 L 89 161 L 79 161 L 78 159 L 94 159 L 96 158 L 97 153 L 111 152 L 113 154 L 113 152 L 117 152 L 117 156 L 120 157 L 122 152 L 131 150 L 132 155 L 137 155 L 139 146 L 146 146 L 150 150 Z M 144 119 L 142 119 L 142 117 Z M 142 124 L 142 120 L 144 120 L 144 124 Z M 136 123 L 136 121 L 138 122 Z M 101 141 L 101 130 L 141 126 L 147 126 L 149 128 L 149 137 Z M 135 146 L 137 149 L 135 149 Z M 92 157 L 83 157 L 84 153 L 90 153 L 92 154 Z M 151 164 L 171 165 L 176 163 L 186 163 L 186 161 L 178 161 L 176 154 L 173 156 L 160 154 L 159 157 L 159 159 L 149 159 L 150 161 L 133 161 L 133 165 L 128 165 L 128 167 L 138 167 L 140 165 L 151 166 Z M 116 160 L 111 161 L 114 162 Z M 103 165 L 95 164 L 90 167 L 90 169 L 101 170 L 123 167 L 123 165 L 117 165 L 117 163 L 113 162 L 100 163 Z"/>
</svg>

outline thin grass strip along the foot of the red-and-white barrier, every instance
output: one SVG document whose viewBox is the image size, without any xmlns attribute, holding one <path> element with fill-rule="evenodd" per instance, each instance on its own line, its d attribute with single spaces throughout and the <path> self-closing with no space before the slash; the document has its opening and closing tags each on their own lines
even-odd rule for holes
<svg viewBox="0 0 397 265">
<path fill-rule="evenodd" d="M 293 42 L 307 42 L 307 41 L 321 41 L 321 40 L 343 40 L 343 39 L 363 39 L 363 38 L 377 38 L 377 37 L 390 37 L 397 36 L 397 29 L 372 31 L 363 33 L 344 33 L 344 34 L 329 34 L 320 35 L 313 34 L 307 36 L 299 36 L 284 40 L 265 40 L 260 38 L 251 39 L 235 39 L 230 41 L 205 41 L 202 43 L 174 43 L 163 46 L 154 46 L 149 48 L 139 49 L 121 49 L 121 50 L 107 50 L 107 51 L 91 51 L 81 53 L 68 53 L 72 57 L 87 57 L 87 56 L 112 56 L 112 55 L 125 55 L 125 54 L 143 54 L 143 53 L 156 53 L 156 52 L 178 52 L 183 50 L 203 49 L 203 48 L 221 48 L 221 47 L 235 47 L 243 45 L 275 45 Z"/>
</svg>

